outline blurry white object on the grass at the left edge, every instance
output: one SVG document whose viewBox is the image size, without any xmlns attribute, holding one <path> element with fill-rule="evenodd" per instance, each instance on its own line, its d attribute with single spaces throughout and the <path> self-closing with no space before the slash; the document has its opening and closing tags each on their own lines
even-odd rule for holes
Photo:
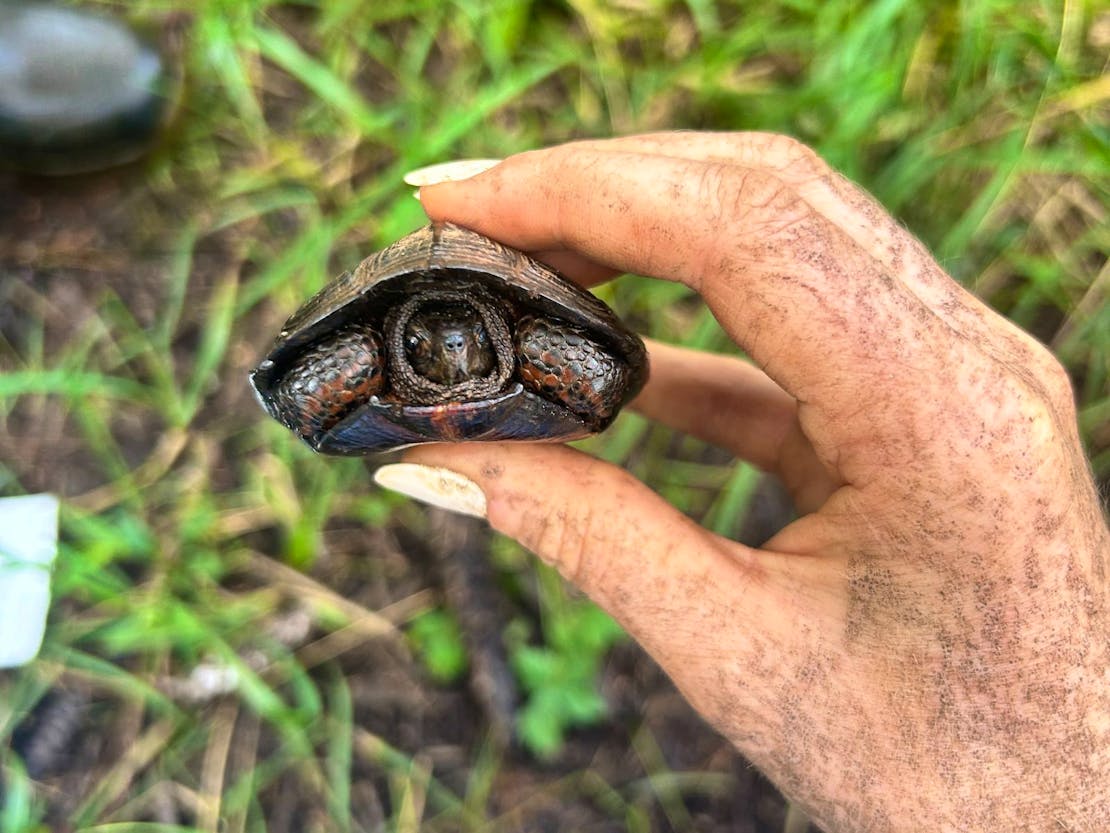
<svg viewBox="0 0 1110 833">
<path fill-rule="evenodd" d="M 0 498 L 0 669 L 23 665 L 39 653 L 57 552 L 54 495 Z"/>
</svg>

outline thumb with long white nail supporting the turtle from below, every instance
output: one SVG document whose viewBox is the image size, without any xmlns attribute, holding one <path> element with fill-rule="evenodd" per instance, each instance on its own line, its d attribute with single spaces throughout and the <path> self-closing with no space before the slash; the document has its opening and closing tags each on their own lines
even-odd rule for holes
<svg viewBox="0 0 1110 833">
<path fill-rule="evenodd" d="M 695 672 L 693 653 L 712 665 L 707 654 L 719 650 L 736 663 L 771 630 L 786 636 L 768 621 L 781 606 L 753 592 L 769 589 L 767 554 L 704 530 L 617 466 L 563 445 L 516 443 L 425 445 L 405 460 L 379 470 L 379 482 L 447 509 L 462 496 L 463 511 L 553 564 L 682 688 L 697 688 L 682 679 Z"/>
</svg>

